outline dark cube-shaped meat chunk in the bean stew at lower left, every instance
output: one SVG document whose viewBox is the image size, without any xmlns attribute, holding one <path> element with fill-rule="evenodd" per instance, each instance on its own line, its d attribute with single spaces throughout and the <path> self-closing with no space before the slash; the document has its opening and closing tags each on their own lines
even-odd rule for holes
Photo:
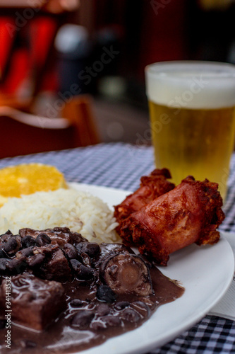
<svg viewBox="0 0 235 354">
<path fill-rule="evenodd" d="M 5 302 L 6 280 L 0 287 L 0 303 Z M 66 296 L 60 282 L 42 280 L 28 273 L 11 278 L 11 318 L 17 324 L 42 331 L 65 306 Z"/>
</svg>

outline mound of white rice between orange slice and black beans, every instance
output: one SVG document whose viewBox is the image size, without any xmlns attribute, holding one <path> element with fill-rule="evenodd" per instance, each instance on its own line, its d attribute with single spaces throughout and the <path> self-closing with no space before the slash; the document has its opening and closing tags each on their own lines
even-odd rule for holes
<svg viewBox="0 0 235 354">
<path fill-rule="evenodd" d="M 9 198 L 0 208 L 0 233 L 13 234 L 24 227 L 48 229 L 69 227 L 88 241 L 116 242 L 119 236 L 112 210 L 100 198 L 75 189 L 37 192 Z"/>
</svg>

